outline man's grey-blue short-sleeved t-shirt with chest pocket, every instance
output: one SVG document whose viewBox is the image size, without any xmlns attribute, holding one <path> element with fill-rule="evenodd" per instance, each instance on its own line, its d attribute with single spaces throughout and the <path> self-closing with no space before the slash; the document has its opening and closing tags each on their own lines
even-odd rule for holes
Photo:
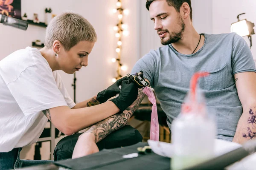
<svg viewBox="0 0 256 170">
<path fill-rule="evenodd" d="M 197 71 L 209 72 L 210 76 L 199 79 L 199 87 L 206 97 L 207 109 L 216 113 L 217 138 L 232 141 L 243 111 L 234 74 L 256 72 L 253 56 L 245 40 L 236 33 L 203 35 L 204 45 L 195 54 L 180 54 L 172 45 L 165 45 L 138 60 L 131 73 L 144 72 L 171 128 L 189 91 L 192 75 Z"/>
</svg>

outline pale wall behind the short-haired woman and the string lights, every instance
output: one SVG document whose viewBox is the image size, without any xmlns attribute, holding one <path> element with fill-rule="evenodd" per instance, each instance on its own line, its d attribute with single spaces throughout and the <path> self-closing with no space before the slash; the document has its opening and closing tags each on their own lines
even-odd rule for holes
<svg viewBox="0 0 256 170">
<path fill-rule="evenodd" d="M 129 3 L 128 3 L 129 1 Z M 131 3 L 133 1 L 134 3 Z M 39 20 L 44 22 L 44 9 L 51 8 L 52 14 L 60 14 L 64 11 L 73 11 L 84 16 L 94 26 L 98 35 L 92 53 L 89 56 L 89 65 L 77 72 L 77 94 L 76 102 L 96 95 L 97 92 L 111 85 L 111 79 L 116 76 L 116 63 L 111 62 L 111 58 L 116 57 L 115 31 L 113 26 L 118 22 L 116 14 L 112 9 L 116 8 L 117 0 L 22 0 L 21 13 L 27 13 L 28 18 L 32 19 L 33 13 L 38 13 Z M 124 23 L 128 25 L 130 34 L 123 37 L 122 63 L 128 66 L 129 73 L 137 61 L 139 55 L 138 32 L 136 24 L 139 21 L 138 6 L 136 0 L 123 0 L 123 7 L 130 10 L 128 16 L 124 16 Z M 32 41 L 37 39 L 44 42 L 45 28 L 29 25 L 26 31 L 3 26 L 0 24 L 0 60 L 21 48 L 32 45 Z M 61 73 L 67 91 L 73 96 L 73 75 Z"/>
</svg>

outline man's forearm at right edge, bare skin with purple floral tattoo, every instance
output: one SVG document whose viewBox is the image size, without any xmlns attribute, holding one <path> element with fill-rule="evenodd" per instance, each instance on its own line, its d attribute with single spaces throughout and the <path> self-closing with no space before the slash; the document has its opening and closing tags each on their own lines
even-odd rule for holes
<svg viewBox="0 0 256 170">
<path fill-rule="evenodd" d="M 243 144 L 247 140 L 256 138 L 256 103 L 252 107 L 243 109 L 233 142 Z"/>
</svg>

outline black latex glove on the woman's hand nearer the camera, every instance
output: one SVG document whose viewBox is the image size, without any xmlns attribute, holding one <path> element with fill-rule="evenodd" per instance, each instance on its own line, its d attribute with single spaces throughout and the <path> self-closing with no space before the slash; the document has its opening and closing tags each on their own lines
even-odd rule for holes
<svg viewBox="0 0 256 170">
<path fill-rule="evenodd" d="M 138 97 L 137 86 L 128 80 L 122 82 L 122 88 L 118 97 L 111 101 L 120 109 L 121 113 L 128 108 Z"/>
</svg>

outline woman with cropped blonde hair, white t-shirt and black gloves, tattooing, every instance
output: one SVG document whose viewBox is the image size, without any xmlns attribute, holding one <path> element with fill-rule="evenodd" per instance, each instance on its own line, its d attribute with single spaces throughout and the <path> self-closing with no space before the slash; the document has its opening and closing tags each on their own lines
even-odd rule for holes
<svg viewBox="0 0 256 170">
<path fill-rule="evenodd" d="M 128 84 L 126 78 L 100 92 L 97 98 L 78 104 L 67 94 L 57 70 L 73 74 L 86 67 L 96 39 L 86 19 L 64 13 L 49 23 L 44 48 L 27 47 L 0 61 L 1 170 L 47 162 L 20 160 L 19 154 L 22 147 L 37 142 L 48 119 L 58 130 L 71 135 L 123 113 L 137 99 L 137 87 Z M 118 93 L 118 97 L 107 101 Z"/>
</svg>

